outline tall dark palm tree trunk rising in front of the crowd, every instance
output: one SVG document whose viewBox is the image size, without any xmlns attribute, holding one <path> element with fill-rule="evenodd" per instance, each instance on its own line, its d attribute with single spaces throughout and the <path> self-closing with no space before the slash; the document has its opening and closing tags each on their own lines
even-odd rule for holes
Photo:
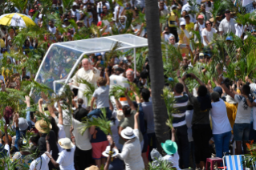
<svg viewBox="0 0 256 170">
<path fill-rule="evenodd" d="M 149 74 L 152 88 L 152 106 L 154 111 L 157 149 L 161 151 L 161 143 L 169 140 L 169 127 L 165 100 L 161 96 L 165 86 L 164 68 L 161 52 L 161 30 L 159 24 L 159 9 L 157 0 L 146 0 L 146 21 L 148 33 Z"/>
</svg>

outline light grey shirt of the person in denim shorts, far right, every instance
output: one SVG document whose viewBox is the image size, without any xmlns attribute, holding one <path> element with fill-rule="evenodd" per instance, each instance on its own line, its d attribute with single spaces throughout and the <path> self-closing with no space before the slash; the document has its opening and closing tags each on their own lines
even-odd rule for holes
<svg viewBox="0 0 256 170">
<path fill-rule="evenodd" d="M 234 123 L 250 123 L 251 107 L 246 105 L 246 98 L 242 95 L 234 95 L 234 100 L 238 102 L 238 111 Z"/>
</svg>

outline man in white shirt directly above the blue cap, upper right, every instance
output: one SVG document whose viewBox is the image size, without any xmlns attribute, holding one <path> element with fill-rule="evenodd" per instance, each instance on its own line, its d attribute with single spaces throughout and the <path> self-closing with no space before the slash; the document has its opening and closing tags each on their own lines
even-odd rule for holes
<svg viewBox="0 0 256 170">
<path fill-rule="evenodd" d="M 234 24 L 236 23 L 236 21 L 234 20 L 234 18 L 231 18 L 230 16 L 230 10 L 226 10 L 225 11 L 225 16 L 226 18 L 224 18 L 219 26 L 219 31 L 220 34 L 228 34 L 230 32 L 233 32 L 234 34 L 236 34 L 236 30 L 235 30 L 235 26 Z"/>
</svg>

